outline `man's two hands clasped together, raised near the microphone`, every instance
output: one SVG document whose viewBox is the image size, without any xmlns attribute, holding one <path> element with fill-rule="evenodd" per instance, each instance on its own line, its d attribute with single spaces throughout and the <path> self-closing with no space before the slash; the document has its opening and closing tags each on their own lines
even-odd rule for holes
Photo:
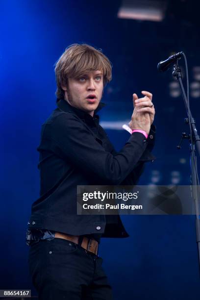
<svg viewBox="0 0 200 300">
<path fill-rule="evenodd" d="M 155 116 L 155 108 L 152 104 L 152 94 L 147 91 L 142 91 L 145 95 L 143 98 L 138 98 L 137 94 L 133 94 L 133 114 L 129 127 L 134 129 L 144 130 L 149 134 L 150 125 L 153 123 Z"/>
</svg>

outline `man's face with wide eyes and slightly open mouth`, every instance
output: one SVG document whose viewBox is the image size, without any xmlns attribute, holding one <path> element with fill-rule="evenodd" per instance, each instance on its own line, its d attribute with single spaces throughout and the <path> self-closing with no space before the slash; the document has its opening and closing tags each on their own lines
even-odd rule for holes
<svg viewBox="0 0 200 300">
<path fill-rule="evenodd" d="M 65 91 L 65 99 L 70 105 L 93 116 L 102 97 L 102 72 L 91 71 L 78 78 L 68 78 L 68 86 L 62 88 Z"/>
</svg>

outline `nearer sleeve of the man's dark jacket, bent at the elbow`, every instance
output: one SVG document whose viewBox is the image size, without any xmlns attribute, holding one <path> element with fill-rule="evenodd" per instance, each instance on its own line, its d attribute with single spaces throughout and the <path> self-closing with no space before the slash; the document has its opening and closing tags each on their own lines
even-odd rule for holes
<svg viewBox="0 0 200 300">
<path fill-rule="evenodd" d="M 105 180 L 120 184 L 134 169 L 146 150 L 147 141 L 140 132 L 134 132 L 124 148 L 116 155 L 105 151 L 87 125 L 71 113 L 62 113 L 47 123 L 42 138 L 51 151 Z"/>
</svg>

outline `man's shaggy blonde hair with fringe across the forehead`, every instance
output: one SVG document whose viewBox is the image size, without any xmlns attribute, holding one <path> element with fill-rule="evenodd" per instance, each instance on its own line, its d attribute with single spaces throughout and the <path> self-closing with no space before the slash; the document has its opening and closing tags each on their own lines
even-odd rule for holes
<svg viewBox="0 0 200 300">
<path fill-rule="evenodd" d="M 101 70 L 103 86 L 112 79 L 112 66 L 109 59 L 94 47 L 87 44 L 73 44 L 55 63 L 57 99 L 64 98 L 62 86 L 67 86 L 67 78 L 76 78 L 90 71 Z"/>
</svg>

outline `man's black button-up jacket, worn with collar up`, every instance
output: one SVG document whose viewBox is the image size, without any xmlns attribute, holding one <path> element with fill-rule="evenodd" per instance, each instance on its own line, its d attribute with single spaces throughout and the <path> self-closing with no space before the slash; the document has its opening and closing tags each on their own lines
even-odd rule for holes
<svg viewBox="0 0 200 300">
<path fill-rule="evenodd" d="M 116 152 L 99 116 L 72 107 L 65 100 L 42 125 L 38 147 L 40 198 L 32 204 L 28 228 L 43 228 L 72 235 L 96 234 L 126 237 L 117 215 L 76 215 L 77 185 L 134 185 L 151 161 L 155 127 L 148 140 L 134 132 Z"/>
</svg>

